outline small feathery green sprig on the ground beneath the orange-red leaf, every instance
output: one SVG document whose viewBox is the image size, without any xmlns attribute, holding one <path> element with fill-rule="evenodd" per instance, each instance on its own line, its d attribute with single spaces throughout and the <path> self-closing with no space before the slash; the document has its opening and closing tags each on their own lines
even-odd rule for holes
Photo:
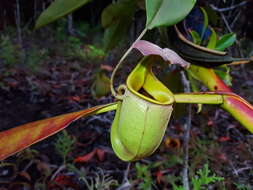
<svg viewBox="0 0 253 190">
<path fill-rule="evenodd" d="M 56 152 L 62 157 L 63 164 L 66 164 L 68 154 L 74 148 L 75 139 L 72 138 L 66 130 L 62 131 L 58 135 L 57 140 L 54 143 Z"/>
</svg>

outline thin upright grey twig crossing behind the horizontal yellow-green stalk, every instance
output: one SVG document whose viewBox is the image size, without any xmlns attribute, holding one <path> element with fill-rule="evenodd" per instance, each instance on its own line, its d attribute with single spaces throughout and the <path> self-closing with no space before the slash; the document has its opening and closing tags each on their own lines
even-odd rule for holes
<svg viewBox="0 0 253 190">
<path fill-rule="evenodd" d="M 190 92 L 190 84 L 187 80 L 184 71 L 181 71 L 182 82 L 184 84 L 184 91 Z M 183 152 L 184 152 L 184 168 L 183 168 L 183 185 L 184 190 L 190 190 L 189 185 L 189 140 L 190 140 L 190 130 L 191 130 L 191 104 L 188 105 L 188 117 L 184 126 L 184 143 L 183 143 Z"/>
</svg>

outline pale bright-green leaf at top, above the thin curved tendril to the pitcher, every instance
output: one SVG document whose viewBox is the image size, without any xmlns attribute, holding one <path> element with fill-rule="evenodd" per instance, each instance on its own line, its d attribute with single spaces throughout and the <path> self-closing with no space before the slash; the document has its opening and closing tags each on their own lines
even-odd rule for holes
<svg viewBox="0 0 253 190">
<path fill-rule="evenodd" d="M 196 0 L 146 0 L 146 28 L 171 26 L 184 19 Z"/>
</svg>

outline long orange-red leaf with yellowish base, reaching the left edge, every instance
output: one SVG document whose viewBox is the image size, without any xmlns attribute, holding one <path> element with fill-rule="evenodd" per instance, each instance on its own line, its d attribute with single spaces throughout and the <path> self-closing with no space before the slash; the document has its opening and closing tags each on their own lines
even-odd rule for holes
<svg viewBox="0 0 253 190">
<path fill-rule="evenodd" d="M 77 119 L 117 108 L 117 102 L 27 123 L 0 132 L 0 160 L 65 129 Z"/>
</svg>

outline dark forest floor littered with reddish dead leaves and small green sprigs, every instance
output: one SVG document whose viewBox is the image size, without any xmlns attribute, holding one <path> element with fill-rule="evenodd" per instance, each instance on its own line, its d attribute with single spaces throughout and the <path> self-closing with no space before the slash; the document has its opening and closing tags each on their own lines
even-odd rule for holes
<svg viewBox="0 0 253 190">
<path fill-rule="evenodd" d="M 43 50 L 39 45 L 36 48 Z M 35 53 L 31 59 L 36 57 Z M 95 98 L 91 89 L 99 70 L 103 68 L 109 76 L 115 61 L 94 63 L 54 52 L 39 62 L 35 69 L 1 65 L 1 131 L 114 101 L 111 95 Z M 231 70 L 232 88 L 253 103 L 253 67 L 233 66 Z M 189 144 L 191 184 L 203 179 L 214 181 L 206 189 L 253 189 L 253 135 L 218 107 L 204 106 L 199 114 L 196 110 L 194 105 Z M 112 151 L 113 118 L 114 112 L 108 112 L 80 119 L 65 132 L 0 162 L 0 189 L 180 189 L 185 116 L 171 119 L 152 156 L 131 164 L 119 160 Z"/>
</svg>

